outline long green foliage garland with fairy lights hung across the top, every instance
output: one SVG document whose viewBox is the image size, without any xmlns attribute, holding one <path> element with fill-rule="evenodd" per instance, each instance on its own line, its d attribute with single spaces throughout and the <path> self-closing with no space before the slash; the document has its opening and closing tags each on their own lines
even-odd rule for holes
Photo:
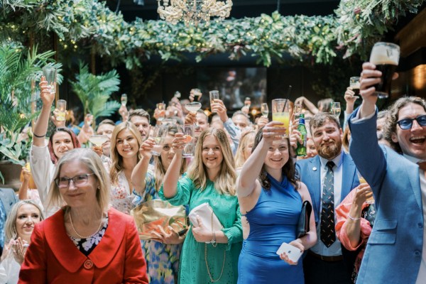
<svg viewBox="0 0 426 284">
<path fill-rule="evenodd" d="M 151 55 L 178 60 L 182 53 L 197 53 L 197 60 L 212 53 L 229 53 L 233 60 L 250 55 L 265 66 L 285 53 L 300 61 L 331 63 L 339 50 L 345 57 L 364 55 L 398 17 L 415 13 L 424 1 L 343 0 L 332 16 L 274 12 L 187 28 L 141 19 L 126 23 L 121 13 L 98 0 L 3 0 L 0 21 L 5 25 L 0 34 L 9 39 L 29 31 L 52 31 L 64 47 L 92 45 L 98 55 L 109 56 L 113 64 L 125 62 L 129 69 Z"/>
</svg>

